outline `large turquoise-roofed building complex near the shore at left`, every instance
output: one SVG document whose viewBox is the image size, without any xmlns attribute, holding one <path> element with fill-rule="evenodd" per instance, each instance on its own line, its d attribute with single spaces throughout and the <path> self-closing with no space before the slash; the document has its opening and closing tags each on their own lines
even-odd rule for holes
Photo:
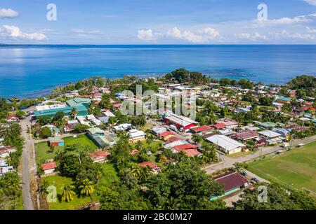
<svg viewBox="0 0 316 224">
<path fill-rule="evenodd" d="M 92 102 L 91 99 L 86 98 L 74 98 L 67 100 L 65 107 L 47 109 L 42 111 L 34 111 L 34 116 L 53 118 L 56 113 L 64 112 L 65 116 L 70 116 L 70 113 L 75 108 L 77 110 L 77 116 L 87 116 L 88 115 L 88 105 Z"/>
</svg>

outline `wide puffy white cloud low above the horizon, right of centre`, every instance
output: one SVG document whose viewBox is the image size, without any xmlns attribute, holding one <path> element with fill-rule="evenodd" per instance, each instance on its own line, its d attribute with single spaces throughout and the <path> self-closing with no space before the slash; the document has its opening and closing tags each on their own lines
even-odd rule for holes
<svg viewBox="0 0 316 224">
<path fill-rule="evenodd" d="M 220 34 L 216 29 L 213 29 L 211 27 L 201 29 L 197 32 L 197 34 L 193 33 L 190 30 L 180 31 L 178 27 L 173 27 L 173 29 L 169 30 L 166 35 L 172 38 L 178 38 L 192 43 L 203 43 L 213 40 Z"/>
</svg>

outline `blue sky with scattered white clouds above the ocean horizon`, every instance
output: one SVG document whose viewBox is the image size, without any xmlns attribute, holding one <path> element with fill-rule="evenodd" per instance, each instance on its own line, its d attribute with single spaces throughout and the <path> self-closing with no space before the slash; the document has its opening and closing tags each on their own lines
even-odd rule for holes
<svg viewBox="0 0 316 224">
<path fill-rule="evenodd" d="M 316 44 L 316 0 L 1 0 L 0 43 Z"/>
</svg>

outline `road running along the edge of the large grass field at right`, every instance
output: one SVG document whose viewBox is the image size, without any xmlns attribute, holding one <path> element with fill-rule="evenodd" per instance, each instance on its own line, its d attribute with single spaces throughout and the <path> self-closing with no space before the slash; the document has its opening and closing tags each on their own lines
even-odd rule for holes
<svg viewBox="0 0 316 224">
<path fill-rule="evenodd" d="M 315 140 L 316 140 L 316 135 L 306 138 L 306 139 L 296 139 L 293 141 L 292 146 L 294 147 L 294 146 L 297 146 L 298 144 L 305 144 L 305 143 L 308 143 L 310 141 L 315 141 Z M 270 153 L 279 151 L 280 149 L 282 149 L 280 146 L 272 146 L 272 147 L 263 148 L 262 155 L 268 155 Z M 226 155 L 220 155 L 220 159 L 224 162 L 224 165 L 223 165 L 223 162 L 219 162 L 214 165 L 203 167 L 203 169 L 206 171 L 207 174 L 211 174 L 213 172 L 216 172 L 219 169 L 233 167 L 233 164 L 235 162 L 247 162 L 249 160 L 254 160 L 255 158 L 260 157 L 260 154 L 261 154 L 261 150 L 258 150 L 255 153 L 252 153 L 249 155 L 241 156 L 239 158 L 230 158 Z"/>
</svg>

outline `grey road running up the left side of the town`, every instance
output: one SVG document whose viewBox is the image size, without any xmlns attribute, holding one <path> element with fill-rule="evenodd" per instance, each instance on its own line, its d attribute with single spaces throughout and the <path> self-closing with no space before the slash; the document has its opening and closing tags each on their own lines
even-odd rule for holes
<svg viewBox="0 0 316 224">
<path fill-rule="evenodd" d="M 22 152 L 22 198 L 23 198 L 23 204 L 24 208 L 26 210 L 34 210 L 32 195 L 31 195 L 31 181 L 30 181 L 30 172 L 32 171 L 33 162 L 31 160 L 32 155 L 30 153 L 32 152 L 33 147 L 33 141 L 29 137 L 29 134 L 27 134 L 27 125 L 29 124 L 29 117 L 25 118 L 25 120 L 21 121 L 21 127 L 22 127 L 22 136 L 25 139 L 25 146 L 23 148 Z M 31 167 L 31 169 L 30 169 Z"/>
</svg>

